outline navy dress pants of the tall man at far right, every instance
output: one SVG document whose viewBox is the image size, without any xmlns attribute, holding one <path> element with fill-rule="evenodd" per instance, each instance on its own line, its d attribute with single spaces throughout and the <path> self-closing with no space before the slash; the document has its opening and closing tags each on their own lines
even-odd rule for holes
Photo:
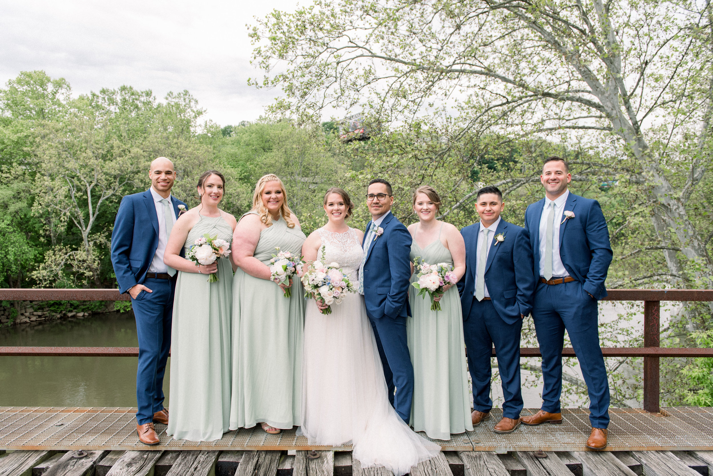
<svg viewBox="0 0 713 476">
<path fill-rule="evenodd" d="M 599 346 L 597 300 L 579 281 L 548 285 L 538 283 L 533 321 L 542 352 L 542 410 L 560 413 L 562 348 L 565 329 L 577 354 L 589 394 L 589 419 L 593 428 L 609 425 L 609 382 Z"/>
</svg>

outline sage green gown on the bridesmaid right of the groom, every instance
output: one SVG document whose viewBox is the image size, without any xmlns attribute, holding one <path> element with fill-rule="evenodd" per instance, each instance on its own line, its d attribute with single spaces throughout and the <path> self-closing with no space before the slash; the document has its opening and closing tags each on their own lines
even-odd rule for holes
<svg viewBox="0 0 713 476">
<path fill-rule="evenodd" d="M 441 225 L 442 227 L 442 225 Z M 436 241 L 421 249 L 411 243 L 411 261 L 453 264 L 451 252 Z M 416 273 L 411 282 L 418 281 Z M 415 292 L 414 292 L 415 291 Z M 450 440 L 451 433 L 473 430 L 468 390 L 466 343 L 458 289 L 453 286 L 441 297 L 441 311 L 431 311 L 429 296 L 416 296 L 409 288 L 411 318 L 406 321 L 411 362 L 414 363 L 414 401 L 411 426 L 429 438 Z"/>
</svg>

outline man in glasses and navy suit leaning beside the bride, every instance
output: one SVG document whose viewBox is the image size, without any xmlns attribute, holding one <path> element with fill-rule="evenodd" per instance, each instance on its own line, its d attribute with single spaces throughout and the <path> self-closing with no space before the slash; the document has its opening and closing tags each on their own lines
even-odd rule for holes
<svg viewBox="0 0 713 476">
<path fill-rule="evenodd" d="M 374 328 L 389 387 L 389 401 L 396 413 L 409 423 L 414 395 L 414 366 L 406 341 L 406 317 L 411 314 L 411 234 L 391 214 L 393 203 L 389 182 L 384 179 L 369 182 L 366 205 L 371 222 L 362 242 L 364 259 L 359 267 L 359 294 L 364 295 L 366 315 Z"/>
</svg>

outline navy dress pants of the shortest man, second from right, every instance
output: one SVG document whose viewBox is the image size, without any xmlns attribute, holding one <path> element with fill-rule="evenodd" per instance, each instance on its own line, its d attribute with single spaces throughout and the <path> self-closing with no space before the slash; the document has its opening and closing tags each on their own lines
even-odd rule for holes
<svg viewBox="0 0 713 476">
<path fill-rule="evenodd" d="M 491 399 L 491 357 L 495 346 L 498 372 L 503 388 L 503 417 L 520 418 L 523 395 L 520 390 L 520 331 L 523 320 L 515 324 L 503 321 L 493 301 L 473 298 L 468 319 L 463 321 L 463 334 L 468 352 L 468 370 L 473 379 L 473 408 L 488 413 Z"/>
</svg>

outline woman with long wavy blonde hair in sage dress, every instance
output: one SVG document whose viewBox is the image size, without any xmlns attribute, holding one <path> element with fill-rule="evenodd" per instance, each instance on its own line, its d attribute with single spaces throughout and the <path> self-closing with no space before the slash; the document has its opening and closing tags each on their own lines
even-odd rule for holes
<svg viewBox="0 0 713 476">
<path fill-rule="evenodd" d="M 304 290 L 292 279 L 292 296 L 270 281 L 276 248 L 300 256 L 306 238 L 287 206 L 282 181 L 265 175 L 255 186 L 252 210 L 233 234 L 239 269 L 233 281 L 230 429 L 261 423 L 267 433 L 299 425 L 302 410 Z"/>
</svg>

